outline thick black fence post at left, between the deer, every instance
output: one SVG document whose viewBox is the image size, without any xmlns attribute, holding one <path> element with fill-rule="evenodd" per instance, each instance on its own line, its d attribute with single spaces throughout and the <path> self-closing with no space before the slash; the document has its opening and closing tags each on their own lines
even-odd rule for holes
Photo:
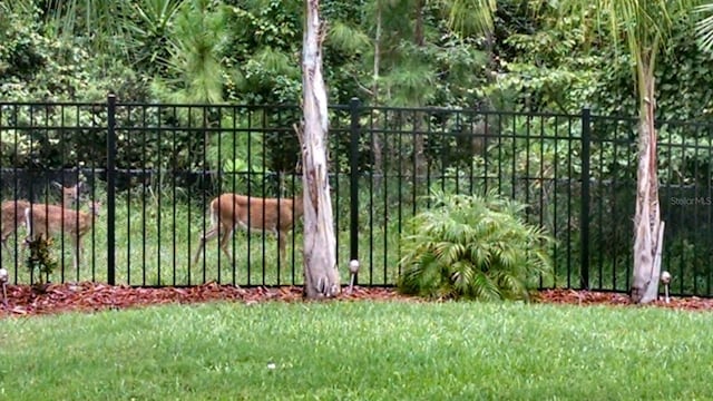
<svg viewBox="0 0 713 401">
<path fill-rule="evenodd" d="M 116 95 L 107 106 L 107 282 L 116 285 Z"/>
</svg>

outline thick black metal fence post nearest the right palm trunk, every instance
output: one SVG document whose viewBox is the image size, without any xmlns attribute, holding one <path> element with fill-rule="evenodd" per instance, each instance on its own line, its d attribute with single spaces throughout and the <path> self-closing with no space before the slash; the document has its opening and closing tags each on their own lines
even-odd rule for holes
<svg viewBox="0 0 713 401">
<path fill-rule="evenodd" d="M 589 288 L 589 145 L 592 136 L 592 110 L 582 109 L 582 205 L 579 209 L 580 286 Z"/>
</svg>

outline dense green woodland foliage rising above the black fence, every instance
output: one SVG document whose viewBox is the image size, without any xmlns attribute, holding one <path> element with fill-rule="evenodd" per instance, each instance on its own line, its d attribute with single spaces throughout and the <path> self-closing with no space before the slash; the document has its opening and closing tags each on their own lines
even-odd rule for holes
<svg viewBox="0 0 713 401">
<path fill-rule="evenodd" d="M 451 23 L 455 12 L 472 13 L 451 1 L 323 1 L 330 101 L 358 97 L 368 105 L 569 114 L 588 106 L 598 115 L 634 116 L 627 56 L 606 40 L 592 39 L 593 22 L 586 16 L 563 19 L 547 2 L 533 7 L 538 3 L 497 1 L 495 29 L 482 36 L 468 25 Z M 295 105 L 302 79 L 302 6 L 299 0 L 6 1 L 0 4 L 0 99 L 104 101 L 114 91 L 120 101 Z M 706 119 L 713 110 L 713 56 L 697 46 L 694 22 L 675 21 L 674 50 L 657 63 L 657 113 L 663 119 Z M 48 113 L 41 118 L 61 117 Z M 294 123 L 272 117 L 268 124 L 289 128 Z M 418 128 L 430 123 L 427 117 L 410 124 Z M 30 116 L 18 118 L 27 121 Z M 147 118 L 187 124 L 185 118 Z M 225 116 L 215 113 L 206 118 L 208 125 L 232 124 L 218 121 Z M 79 119 L 100 121 L 102 116 L 87 111 Z M 192 124 L 196 121 L 201 118 Z M 104 145 L 97 139 L 97 146 Z M 215 146 L 214 136 L 204 139 L 208 148 Z M 284 139 L 265 138 L 271 154 L 265 169 L 294 168 L 299 144 Z M 420 154 L 423 144 L 413 146 Z M 185 140 L 178 148 L 192 149 Z M 52 160 L 52 153 L 62 151 L 43 150 L 49 165 L 101 154 L 86 150 L 77 155 L 80 160 Z M 380 169 L 380 155 L 373 157 Z M 129 155 L 120 155 L 119 162 L 134 163 Z M 177 162 L 178 167 L 195 164 Z"/>
</svg>

